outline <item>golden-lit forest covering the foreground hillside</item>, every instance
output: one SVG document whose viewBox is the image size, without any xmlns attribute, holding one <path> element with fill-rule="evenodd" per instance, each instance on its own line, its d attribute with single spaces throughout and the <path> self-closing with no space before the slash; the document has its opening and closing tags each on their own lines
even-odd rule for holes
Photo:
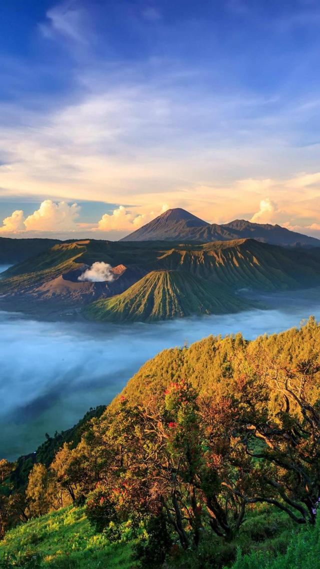
<svg viewBox="0 0 320 569">
<path fill-rule="evenodd" d="M 0 566 L 86 567 L 38 542 L 13 550 L 36 518 L 77 511 L 100 549 L 126 550 L 127 535 L 128 567 L 285 567 L 297 543 L 318 543 L 319 342 L 310 317 L 166 350 L 33 460 L 2 460 Z"/>
</svg>

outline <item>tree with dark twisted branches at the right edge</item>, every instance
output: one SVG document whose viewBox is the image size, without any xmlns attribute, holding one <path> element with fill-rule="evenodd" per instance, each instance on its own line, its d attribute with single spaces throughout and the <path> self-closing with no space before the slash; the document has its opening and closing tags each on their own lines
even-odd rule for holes
<svg viewBox="0 0 320 569">
<path fill-rule="evenodd" d="M 273 504 L 297 523 L 314 523 L 320 502 L 320 403 L 314 389 L 320 366 L 312 355 L 294 368 L 264 354 L 266 359 L 264 397 L 258 401 L 247 378 L 235 401 L 244 451 L 258 460 L 253 475 L 260 494 L 248 501 Z"/>
</svg>

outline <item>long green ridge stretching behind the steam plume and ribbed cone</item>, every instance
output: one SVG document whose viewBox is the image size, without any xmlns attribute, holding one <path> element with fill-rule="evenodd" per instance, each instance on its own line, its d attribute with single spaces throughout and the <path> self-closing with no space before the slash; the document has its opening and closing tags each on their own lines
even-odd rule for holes
<svg viewBox="0 0 320 569">
<path fill-rule="evenodd" d="M 0 293 L 34 290 L 95 261 L 135 268 L 136 281 L 152 270 L 182 270 L 232 288 L 279 290 L 320 284 L 318 248 L 285 249 L 253 239 L 183 245 L 84 240 L 55 245 L 11 267 L 2 274 Z"/>
</svg>

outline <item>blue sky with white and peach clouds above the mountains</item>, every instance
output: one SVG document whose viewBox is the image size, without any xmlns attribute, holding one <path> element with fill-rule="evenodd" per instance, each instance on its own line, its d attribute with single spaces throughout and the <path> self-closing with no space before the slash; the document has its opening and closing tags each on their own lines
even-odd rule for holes
<svg viewBox="0 0 320 569">
<path fill-rule="evenodd" d="M 320 238 L 318 0 L 2 0 L 0 236 Z"/>
</svg>

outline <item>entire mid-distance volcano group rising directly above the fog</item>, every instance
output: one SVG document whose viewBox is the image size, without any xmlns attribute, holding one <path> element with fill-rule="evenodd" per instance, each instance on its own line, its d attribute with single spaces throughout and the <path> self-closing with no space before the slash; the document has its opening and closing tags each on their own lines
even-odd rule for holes
<svg viewBox="0 0 320 569">
<path fill-rule="evenodd" d="M 79 281 L 97 261 L 110 265 L 111 279 Z M 310 286 L 320 286 L 320 248 L 283 248 L 253 239 L 81 240 L 56 244 L 2 273 L 0 295 L 4 306 L 16 310 L 122 322 L 235 312 L 250 306 L 239 294 L 243 289 Z"/>
</svg>

